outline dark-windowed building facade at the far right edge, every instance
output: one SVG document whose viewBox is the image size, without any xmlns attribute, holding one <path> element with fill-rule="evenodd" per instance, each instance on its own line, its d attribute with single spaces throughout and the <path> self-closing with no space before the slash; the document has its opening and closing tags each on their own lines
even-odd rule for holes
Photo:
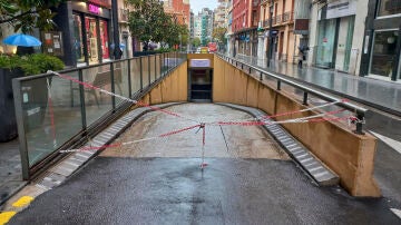
<svg viewBox="0 0 401 225">
<path fill-rule="evenodd" d="M 368 1 L 366 1 L 368 2 Z M 401 1 L 369 0 L 360 75 L 401 80 Z"/>
</svg>

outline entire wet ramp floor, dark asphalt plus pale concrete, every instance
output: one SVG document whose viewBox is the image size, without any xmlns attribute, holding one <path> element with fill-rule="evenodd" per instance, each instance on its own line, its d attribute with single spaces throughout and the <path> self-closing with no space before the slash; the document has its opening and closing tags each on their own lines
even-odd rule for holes
<svg viewBox="0 0 401 225">
<path fill-rule="evenodd" d="M 168 110 L 202 121 L 250 117 L 216 105 Z M 116 143 L 188 125 L 194 121 L 151 113 Z M 38 196 L 10 224 L 400 223 L 389 209 L 400 208 L 400 203 L 354 198 L 338 186 L 315 186 L 257 127 L 206 129 L 208 166 L 202 170 L 202 133 L 195 131 L 106 149 L 63 184 Z M 263 145 L 268 147 L 262 151 L 270 154 L 255 151 Z"/>
</svg>

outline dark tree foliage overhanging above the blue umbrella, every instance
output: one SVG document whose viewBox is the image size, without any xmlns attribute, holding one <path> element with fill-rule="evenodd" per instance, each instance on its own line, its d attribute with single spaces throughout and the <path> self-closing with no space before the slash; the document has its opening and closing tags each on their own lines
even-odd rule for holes
<svg viewBox="0 0 401 225">
<path fill-rule="evenodd" d="M 23 33 L 33 28 L 49 30 L 52 28 L 55 12 L 51 8 L 58 7 L 67 0 L 0 0 L 0 25 L 9 23 L 14 31 L 21 29 Z M 1 35 L 1 33 L 0 33 Z"/>
</svg>

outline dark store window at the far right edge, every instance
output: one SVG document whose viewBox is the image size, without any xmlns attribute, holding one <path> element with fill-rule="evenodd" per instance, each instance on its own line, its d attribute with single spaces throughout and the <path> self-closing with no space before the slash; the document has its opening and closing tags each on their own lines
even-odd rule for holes
<svg viewBox="0 0 401 225">
<path fill-rule="evenodd" d="M 370 74 L 392 77 L 397 63 L 398 30 L 375 31 Z"/>
</svg>

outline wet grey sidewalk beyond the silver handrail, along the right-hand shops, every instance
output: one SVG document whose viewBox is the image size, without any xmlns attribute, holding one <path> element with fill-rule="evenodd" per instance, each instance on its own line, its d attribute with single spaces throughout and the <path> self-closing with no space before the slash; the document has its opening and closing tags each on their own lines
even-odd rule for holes
<svg viewBox="0 0 401 225">
<path fill-rule="evenodd" d="M 336 95 L 350 98 L 361 104 L 401 116 L 401 84 L 372 78 L 359 77 L 344 72 L 306 67 L 299 69 L 297 65 L 274 61 L 266 69 L 266 60 L 237 56 L 239 60 L 252 63 L 267 71 L 274 71 L 305 81 L 309 85 L 334 91 Z"/>
</svg>

